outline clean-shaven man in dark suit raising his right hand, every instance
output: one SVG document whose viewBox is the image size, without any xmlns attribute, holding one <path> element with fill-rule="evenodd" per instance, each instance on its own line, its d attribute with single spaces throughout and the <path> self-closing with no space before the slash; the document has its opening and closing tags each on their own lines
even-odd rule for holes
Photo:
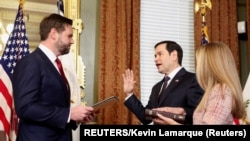
<svg viewBox="0 0 250 141">
<path fill-rule="evenodd" d="M 155 45 L 155 65 L 158 72 L 164 74 L 163 80 L 156 83 L 151 91 L 148 104 L 144 107 L 140 100 L 133 94 L 135 81 L 133 71 L 127 69 L 123 74 L 124 92 L 126 93 L 125 106 L 132 111 L 142 124 L 149 124 L 145 109 L 168 107 L 170 111 L 183 110 L 184 124 L 192 124 L 193 112 L 198 105 L 203 90 L 200 88 L 194 73 L 188 72 L 181 66 L 183 51 L 174 41 L 161 41 Z"/>
</svg>

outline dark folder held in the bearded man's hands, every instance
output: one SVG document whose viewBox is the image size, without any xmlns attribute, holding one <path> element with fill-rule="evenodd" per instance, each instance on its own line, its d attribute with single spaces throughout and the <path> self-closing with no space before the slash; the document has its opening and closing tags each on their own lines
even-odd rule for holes
<svg viewBox="0 0 250 141">
<path fill-rule="evenodd" d="M 107 106 L 113 105 L 117 101 L 119 101 L 119 99 L 116 96 L 111 96 L 109 98 L 106 98 L 106 99 L 94 104 L 92 107 L 94 108 L 94 111 L 97 112 L 100 109 L 103 109 L 103 108 L 105 108 Z"/>
</svg>

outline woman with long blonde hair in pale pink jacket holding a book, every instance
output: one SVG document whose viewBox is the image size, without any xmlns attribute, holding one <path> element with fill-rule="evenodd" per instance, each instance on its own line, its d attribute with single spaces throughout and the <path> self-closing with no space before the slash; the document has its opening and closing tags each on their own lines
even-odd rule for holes
<svg viewBox="0 0 250 141">
<path fill-rule="evenodd" d="M 234 124 L 245 112 L 242 87 L 229 47 L 212 42 L 196 50 L 196 76 L 204 95 L 193 114 L 193 124 Z M 166 111 L 171 108 L 158 108 Z M 173 110 L 172 110 L 173 111 Z M 180 111 L 180 110 L 179 110 Z M 158 114 L 158 124 L 179 124 Z"/>
</svg>

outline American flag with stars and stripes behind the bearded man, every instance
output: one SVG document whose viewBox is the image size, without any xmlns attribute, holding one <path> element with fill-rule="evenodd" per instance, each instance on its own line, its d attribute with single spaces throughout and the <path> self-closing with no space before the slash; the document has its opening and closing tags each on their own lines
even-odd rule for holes
<svg viewBox="0 0 250 141">
<path fill-rule="evenodd" d="M 0 130 L 5 131 L 9 141 L 14 141 L 17 133 L 18 118 L 14 110 L 11 75 L 16 63 L 29 54 L 28 38 L 23 19 L 23 4 L 20 3 L 0 60 Z"/>
</svg>

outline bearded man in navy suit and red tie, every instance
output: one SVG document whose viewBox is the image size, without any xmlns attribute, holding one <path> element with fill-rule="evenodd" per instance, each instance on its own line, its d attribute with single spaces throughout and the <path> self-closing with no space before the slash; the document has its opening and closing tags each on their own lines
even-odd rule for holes
<svg viewBox="0 0 250 141">
<path fill-rule="evenodd" d="M 40 36 L 38 48 L 17 63 L 12 77 L 17 141 L 72 141 L 72 129 L 94 118 L 93 107 L 70 107 L 69 84 L 55 62 L 74 43 L 72 20 L 51 14 L 41 21 Z"/>
</svg>

